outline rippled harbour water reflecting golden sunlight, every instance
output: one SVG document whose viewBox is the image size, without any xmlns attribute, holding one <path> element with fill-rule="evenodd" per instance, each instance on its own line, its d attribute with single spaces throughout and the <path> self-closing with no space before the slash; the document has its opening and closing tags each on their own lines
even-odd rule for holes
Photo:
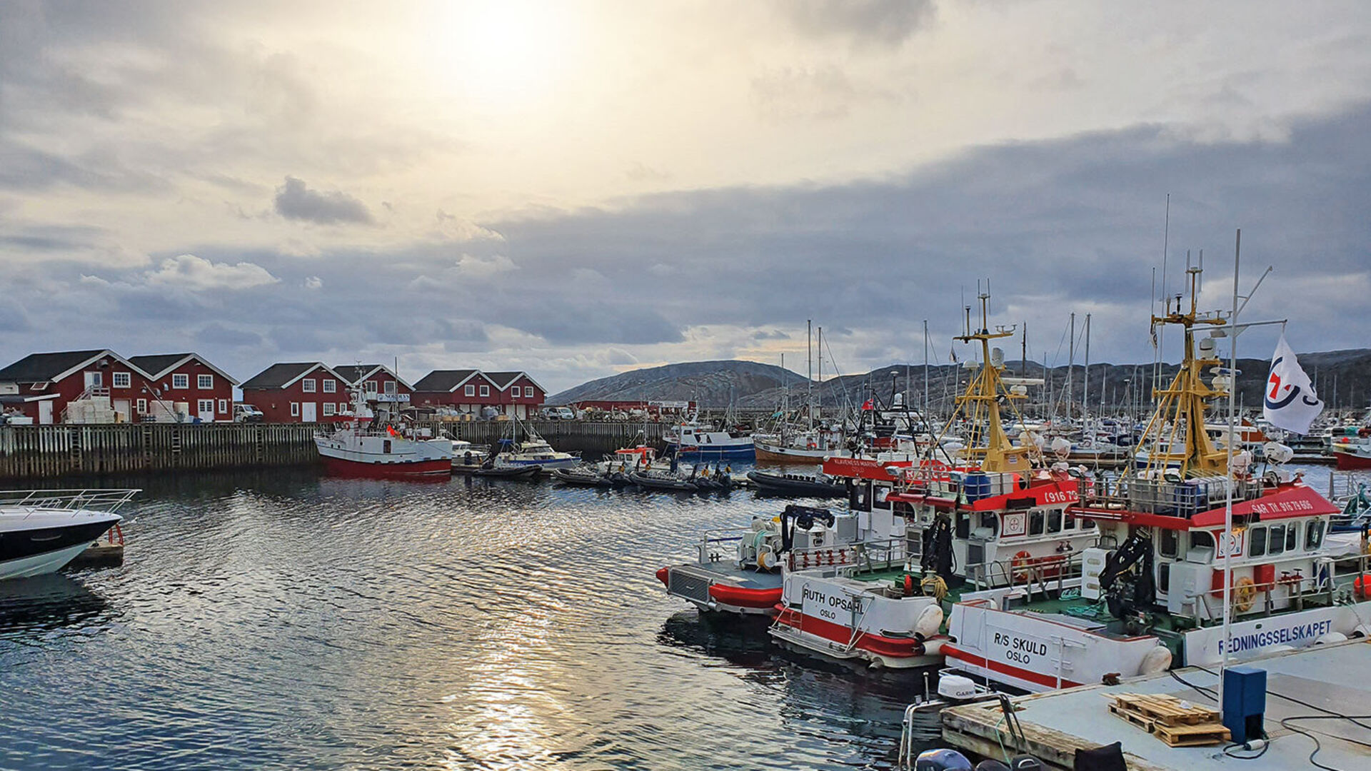
<svg viewBox="0 0 1371 771">
<path fill-rule="evenodd" d="M 141 486 L 123 567 L 0 584 L 0 768 L 887 768 L 923 690 L 665 595 L 746 491 Z"/>
</svg>

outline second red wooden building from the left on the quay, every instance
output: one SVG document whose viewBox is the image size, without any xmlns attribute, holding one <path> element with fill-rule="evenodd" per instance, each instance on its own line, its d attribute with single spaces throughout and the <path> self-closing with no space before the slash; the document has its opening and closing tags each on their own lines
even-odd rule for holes
<svg viewBox="0 0 1371 771">
<path fill-rule="evenodd" d="M 233 420 L 233 387 L 239 381 L 200 354 L 130 357 L 129 362 L 143 370 L 151 384 L 148 392 L 134 401 L 140 420 L 148 414 L 162 420 L 166 406 L 181 402 L 188 414 L 202 423 Z"/>
</svg>

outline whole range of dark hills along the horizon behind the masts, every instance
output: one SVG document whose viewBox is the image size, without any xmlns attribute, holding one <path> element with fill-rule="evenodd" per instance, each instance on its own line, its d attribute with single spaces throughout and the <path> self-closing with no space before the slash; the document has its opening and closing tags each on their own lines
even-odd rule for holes
<svg viewBox="0 0 1371 771">
<path fill-rule="evenodd" d="M 1239 358 L 1238 401 L 1253 407 L 1261 403 L 1268 359 Z M 1371 350 L 1320 351 L 1300 354 L 1300 364 L 1315 379 L 1319 396 L 1330 406 L 1364 407 L 1371 401 Z M 1041 362 L 1005 362 L 1006 375 L 1042 377 L 1043 387 L 1030 390 L 1031 402 L 1049 401 L 1061 405 L 1080 403 L 1086 383 L 1084 368 L 1078 364 L 1071 370 L 1071 394 L 1064 392 L 1067 366 L 1043 370 Z M 1106 405 L 1148 401 L 1152 387 L 1152 362 L 1091 364 L 1089 373 L 1090 403 Z M 1163 379 L 1169 383 L 1176 365 L 1161 366 Z M 906 386 L 908 375 L 908 386 Z M 954 394 L 964 388 L 967 370 L 957 365 L 928 368 L 928 401 L 934 412 L 943 413 Z M 784 384 L 784 387 L 783 387 Z M 924 368 L 921 364 L 890 365 L 861 375 L 832 377 L 814 383 L 814 399 L 828 410 L 840 405 L 860 405 L 875 395 L 890 403 L 894 391 L 910 392 L 910 399 L 923 403 Z M 591 380 L 561 394 L 548 396 L 548 403 L 562 405 L 583 399 L 695 399 L 701 406 L 721 407 L 729 401 L 744 409 L 773 409 L 781 405 L 790 391 L 792 407 L 805 401 L 805 376 L 769 364 L 751 361 L 702 361 L 672 364 L 650 369 L 635 369 L 613 377 Z"/>
</svg>

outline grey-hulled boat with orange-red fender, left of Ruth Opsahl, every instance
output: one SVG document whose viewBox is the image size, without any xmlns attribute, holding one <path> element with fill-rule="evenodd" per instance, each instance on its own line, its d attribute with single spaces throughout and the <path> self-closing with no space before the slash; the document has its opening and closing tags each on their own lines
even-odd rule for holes
<svg viewBox="0 0 1371 771">
<path fill-rule="evenodd" d="M 856 514 L 790 505 L 776 516 L 754 516 L 747 527 L 706 532 L 695 561 L 661 568 L 657 579 L 666 594 L 706 613 L 771 616 L 795 549 L 842 550 L 858 536 Z"/>
</svg>

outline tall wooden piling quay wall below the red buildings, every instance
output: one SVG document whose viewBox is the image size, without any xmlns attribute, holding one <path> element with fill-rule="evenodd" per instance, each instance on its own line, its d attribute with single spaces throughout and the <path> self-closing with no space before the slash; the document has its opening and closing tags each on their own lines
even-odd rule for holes
<svg viewBox="0 0 1371 771">
<path fill-rule="evenodd" d="M 613 453 L 643 440 L 661 447 L 662 424 L 533 421 L 558 450 Z M 0 479 L 271 468 L 318 462 L 317 423 L 117 423 L 0 427 Z M 507 421 L 426 423 L 435 436 L 494 444 Z"/>
</svg>

